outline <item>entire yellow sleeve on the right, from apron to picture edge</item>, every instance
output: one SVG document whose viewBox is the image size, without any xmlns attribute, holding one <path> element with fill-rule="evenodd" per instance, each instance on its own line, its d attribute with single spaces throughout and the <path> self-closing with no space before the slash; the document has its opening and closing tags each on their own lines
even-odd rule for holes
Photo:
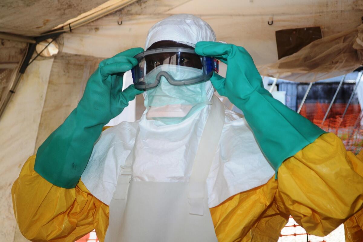
<svg viewBox="0 0 363 242">
<path fill-rule="evenodd" d="M 356 172 L 363 171 L 362 156 L 347 152 L 336 135 L 321 135 L 282 163 L 278 180 L 211 208 L 218 240 L 277 241 L 290 214 L 307 233 L 329 234 L 363 206 L 363 177 Z"/>
</svg>

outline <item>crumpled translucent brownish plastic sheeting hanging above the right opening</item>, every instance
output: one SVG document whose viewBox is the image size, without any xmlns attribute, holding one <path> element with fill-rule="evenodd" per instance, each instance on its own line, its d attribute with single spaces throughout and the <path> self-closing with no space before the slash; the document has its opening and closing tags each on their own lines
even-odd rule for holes
<svg viewBox="0 0 363 242">
<path fill-rule="evenodd" d="M 276 63 L 260 66 L 261 75 L 315 82 L 350 73 L 362 65 L 363 24 L 316 40 Z"/>
</svg>

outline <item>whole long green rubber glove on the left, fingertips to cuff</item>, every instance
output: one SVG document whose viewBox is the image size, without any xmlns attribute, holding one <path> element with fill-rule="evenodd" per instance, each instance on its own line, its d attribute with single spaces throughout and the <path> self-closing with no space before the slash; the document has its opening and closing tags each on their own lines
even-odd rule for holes
<svg viewBox="0 0 363 242">
<path fill-rule="evenodd" d="M 129 49 L 99 63 L 78 106 L 38 148 L 34 170 L 39 175 L 63 188 L 77 185 L 102 127 L 142 93 L 134 85 L 122 91 L 122 78 L 143 51 Z"/>
</svg>

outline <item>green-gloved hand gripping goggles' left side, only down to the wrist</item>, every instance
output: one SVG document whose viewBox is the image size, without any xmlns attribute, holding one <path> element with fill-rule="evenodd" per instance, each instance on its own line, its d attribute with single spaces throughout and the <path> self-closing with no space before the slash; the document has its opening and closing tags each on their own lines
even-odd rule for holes
<svg viewBox="0 0 363 242">
<path fill-rule="evenodd" d="M 142 48 L 132 48 L 99 63 L 77 106 L 77 111 L 84 118 L 106 124 L 119 115 L 136 95 L 143 93 L 134 85 L 122 91 L 123 74 L 138 64 L 134 56 L 143 51 Z"/>
</svg>

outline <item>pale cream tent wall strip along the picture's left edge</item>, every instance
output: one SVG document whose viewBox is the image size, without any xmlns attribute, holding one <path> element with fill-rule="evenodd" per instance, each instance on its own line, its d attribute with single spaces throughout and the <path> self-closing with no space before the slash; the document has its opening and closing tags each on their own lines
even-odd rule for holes
<svg viewBox="0 0 363 242">
<path fill-rule="evenodd" d="M 23 75 L 16 95 L 0 122 L 0 221 L 1 241 L 13 241 L 17 224 L 14 218 L 11 186 L 25 160 L 33 154 L 40 114 L 53 59 L 34 61 Z"/>
</svg>

